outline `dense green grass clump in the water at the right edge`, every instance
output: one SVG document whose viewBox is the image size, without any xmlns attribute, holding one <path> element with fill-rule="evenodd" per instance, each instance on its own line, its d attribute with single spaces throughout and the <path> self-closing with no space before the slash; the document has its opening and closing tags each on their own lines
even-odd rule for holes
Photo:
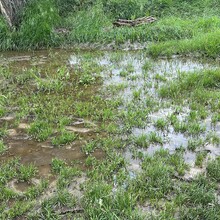
<svg viewBox="0 0 220 220">
<path fill-rule="evenodd" d="M 203 106 L 209 104 L 216 108 L 219 96 L 220 70 L 204 70 L 193 73 L 180 73 L 178 78 L 159 90 L 161 97 L 182 101 L 187 98 L 191 103 L 195 101 Z"/>
</svg>

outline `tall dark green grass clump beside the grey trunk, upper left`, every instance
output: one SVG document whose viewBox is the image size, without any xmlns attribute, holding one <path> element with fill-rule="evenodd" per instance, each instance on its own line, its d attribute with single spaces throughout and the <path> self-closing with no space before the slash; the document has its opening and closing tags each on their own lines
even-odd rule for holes
<svg viewBox="0 0 220 220">
<path fill-rule="evenodd" d="M 53 46 L 56 35 L 53 31 L 59 21 L 58 10 L 53 0 L 30 1 L 21 12 L 17 30 L 10 30 L 0 18 L 0 49 L 29 49 Z"/>
</svg>

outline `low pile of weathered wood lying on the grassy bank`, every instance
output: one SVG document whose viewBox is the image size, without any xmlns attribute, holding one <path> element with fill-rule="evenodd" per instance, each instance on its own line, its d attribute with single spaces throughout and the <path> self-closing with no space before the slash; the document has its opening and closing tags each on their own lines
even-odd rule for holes
<svg viewBox="0 0 220 220">
<path fill-rule="evenodd" d="M 152 22 L 155 22 L 156 20 L 157 19 L 152 16 L 137 18 L 135 20 L 118 19 L 117 21 L 113 23 L 113 25 L 116 27 L 121 27 L 121 26 L 134 27 L 134 26 L 139 26 L 143 24 L 150 24 Z"/>
</svg>

